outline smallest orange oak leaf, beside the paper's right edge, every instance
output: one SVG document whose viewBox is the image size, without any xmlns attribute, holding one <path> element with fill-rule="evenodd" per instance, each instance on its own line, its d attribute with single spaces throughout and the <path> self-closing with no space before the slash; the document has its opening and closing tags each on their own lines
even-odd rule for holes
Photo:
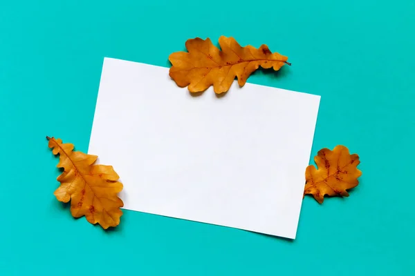
<svg viewBox="0 0 415 276">
<path fill-rule="evenodd" d="M 362 172 L 357 168 L 359 156 L 350 155 L 345 146 L 323 148 L 314 157 L 315 166 L 306 168 L 304 195 L 313 195 L 322 204 L 324 195 L 349 197 L 348 189 L 358 186 Z"/>
</svg>

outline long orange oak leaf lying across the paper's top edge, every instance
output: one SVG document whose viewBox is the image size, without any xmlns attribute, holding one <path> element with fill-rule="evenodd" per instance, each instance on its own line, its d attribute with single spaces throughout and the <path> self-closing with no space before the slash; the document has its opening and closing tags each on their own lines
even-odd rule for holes
<svg viewBox="0 0 415 276">
<path fill-rule="evenodd" d="M 214 92 L 221 94 L 229 90 L 235 77 L 239 86 L 261 66 L 279 70 L 288 57 L 270 51 L 262 45 L 241 47 L 233 37 L 220 37 L 219 50 L 210 39 L 189 39 L 188 52 L 174 52 L 169 56 L 172 63 L 169 75 L 180 87 L 188 86 L 190 92 L 202 92 L 213 85 Z"/>
</svg>

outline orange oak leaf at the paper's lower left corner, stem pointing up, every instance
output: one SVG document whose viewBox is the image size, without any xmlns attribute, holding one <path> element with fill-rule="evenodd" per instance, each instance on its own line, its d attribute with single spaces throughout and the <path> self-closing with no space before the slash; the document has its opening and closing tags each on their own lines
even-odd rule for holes
<svg viewBox="0 0 415 276">
<path fill-rule="evenodd" d="M 98 156 L 73 151 L 73 144 L 62 144 L 61 139 L 46 139 L 53 154 L 59 154 L 57 168 L 64 168 L 57 177 L 61 183 L 54 193 L 57 200 L 71 200 L 73 217 L 84 215 L 91 224 L 98 223 L 104 229 L 120 224 L 124 204 L 117 194 L 122 184 L 113 167 L 93 165 Z"/>
</svg>

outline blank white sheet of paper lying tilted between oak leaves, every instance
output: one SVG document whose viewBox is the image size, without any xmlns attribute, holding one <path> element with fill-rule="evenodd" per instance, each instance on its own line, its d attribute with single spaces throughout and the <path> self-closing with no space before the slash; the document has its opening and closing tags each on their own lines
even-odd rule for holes
<svg viewBox="0 0 415 276">
<path fill-rule="evenodd" d="M 169 68 L 105 58 L 89 153 L 126 209 L 295 239 L 319 103 L 237 81 L 194 97 Z"/>
</svg>

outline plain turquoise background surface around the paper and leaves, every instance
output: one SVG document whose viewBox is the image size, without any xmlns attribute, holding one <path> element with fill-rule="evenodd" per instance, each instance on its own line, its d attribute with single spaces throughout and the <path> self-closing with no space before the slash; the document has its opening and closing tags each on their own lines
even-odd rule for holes
<svg viewBox="0 0 415 276">
<path fill-rule="evenodd" d="M 414 14 L 410 0 L 1 1 L 0 274 L 413 275 Z M 312 156 L 349 147 L 360 185 L 306 197 L 295 241 L 132 211 L 107 232 L 73 219 L 45 136 L 88 149 L 103 58 L 169 66 L 186 39 L 221 34 L 289 57 L 248 81 L 322 95 Z"/>
</svg>

